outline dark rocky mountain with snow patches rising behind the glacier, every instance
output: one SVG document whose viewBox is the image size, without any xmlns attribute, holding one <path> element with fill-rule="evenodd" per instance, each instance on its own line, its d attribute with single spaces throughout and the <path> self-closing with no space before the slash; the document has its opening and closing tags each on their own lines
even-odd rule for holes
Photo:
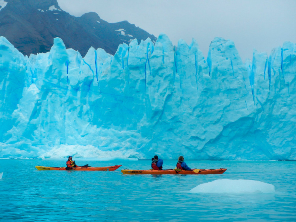
<svg viewBox="0 0 296 222">
<path fill-rule="evenodd" d="M 127 21 L 108 23 L 95 12 L 75 17 L 63 11 L 56 0 L 5 0 L 0 8 L 0 36 L 5 36 L 24 55 L 48 52 L 53 38 L 84 56 L 89 48 L 114 54 L 119 44 L 132 39 L 156 37 Z"/>
</svg>

